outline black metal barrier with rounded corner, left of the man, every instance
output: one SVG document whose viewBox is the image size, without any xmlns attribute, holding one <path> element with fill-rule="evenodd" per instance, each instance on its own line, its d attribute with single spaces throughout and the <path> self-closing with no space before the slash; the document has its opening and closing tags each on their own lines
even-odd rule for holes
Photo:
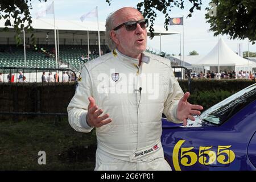
<svg viewBox="0 0 256 182">
<path fill-rule="evenodd" d="M 77 86 L 71 69 L 0 67 L 0 73 L 0 115 L 67 115 Z"/>
</svg>

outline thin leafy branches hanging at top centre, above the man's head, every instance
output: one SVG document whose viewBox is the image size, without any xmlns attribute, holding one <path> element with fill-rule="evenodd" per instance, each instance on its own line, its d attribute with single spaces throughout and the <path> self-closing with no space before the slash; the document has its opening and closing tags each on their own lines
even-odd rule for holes
<svg viewBox="0 0 256 182">
<path fill-rule="evenodd" d="M 112 0 L 106 0 L 109 3 Z M 189 14 L 187 17 L 191 17 L 194 9 L 201 10 L 202 2 L 201 0 L 189 0 L 192 3 L 192 7 L 189 9 Z M 141 11 L 144 18 L 147 18 L 150 22 L 149 32 L 150 32 L 150 39 L 154 38 L 154 20 L 156 18 L 156 11 L 160 11 L 165 15 L 165 22 L 164 28 L 168 30 L 169 24 L 169 13 L 171 12 L 172 7 L 180 7 L 180 9 L 184 9 L 184 0 L 144 0 L 137 4 L 137 9 Z M 143 7 L 143 11 L 142 11 Z"/>
</svg>

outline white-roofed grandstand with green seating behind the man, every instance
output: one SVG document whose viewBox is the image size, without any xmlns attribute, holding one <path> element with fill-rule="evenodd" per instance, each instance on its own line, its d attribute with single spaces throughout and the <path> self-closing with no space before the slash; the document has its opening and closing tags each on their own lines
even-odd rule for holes
<svg viewBox="0 0 256 182">
<path fill-rule="evenodd" d="M 52 48 L 55 48 L 55 36 L 53 31 L 52 19 L 33 19 L 32 26 L 34 31 L 25 32 L 26 42 L 26 62 L 24 59 L 24 48 L 22 45 L 16 46 L 14 39 L 15 31 L 13 27 L 9 27 L 9 31 L 3 31 L 5 20 L 0 20 L 0 67 L 28 67 L 28 68 L 56 68 L 55 55 L 46 55 Z M 84 61 L 80 57 L 88 56 L 88 43 L 90 60 L 98 57 L 98 28 L 95 22 L 80 22 L 76 20 L 56 20 L 56 29 L 59 32 L 57 42 L 59 47 L 59 62 L 66 64 L 76 72 L 81 70 Z M 109 52 L 108 46 L 105 44 L 105 22 L 99 22 L 101 50 L 104 53 Z M 34 34 L 36 40 L 37 51 L 30 40 L 31 34 Z M 87 35 L 88 34 L 88 35 Z M 155 26 L 155 35 L 179 34 L 179 32 L 158 28 Z M 89 36 L 89 40 L 87 39 Z M 21 36 L 23 41 L 23 36 Z M 41 50 L 43 48 L 46 52 Z M 10 51 L 11 49 L 11 51 Z M 93 54 L 93 52 L 96 53 Z"/>
</svg>

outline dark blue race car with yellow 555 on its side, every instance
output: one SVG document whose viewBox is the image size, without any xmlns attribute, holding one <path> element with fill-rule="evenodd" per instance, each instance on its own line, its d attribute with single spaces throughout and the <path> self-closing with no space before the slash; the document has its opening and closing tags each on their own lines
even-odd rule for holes
<svg viewBox="0 0 256 182">
<path fill-rule="evenodd" d="M 162 118 L 164 157 L 172 170 L 256 170 L 256 84 L 188 120 Z"/>
</svg>

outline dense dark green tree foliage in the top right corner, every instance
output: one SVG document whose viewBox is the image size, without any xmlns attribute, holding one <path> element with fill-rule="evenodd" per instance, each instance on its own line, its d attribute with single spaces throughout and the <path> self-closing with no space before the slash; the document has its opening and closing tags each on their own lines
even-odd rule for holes
<svg viewBox="0 0 256 182">
<path fill-rule="evenodd" d="M 255 0 L 212 0 L 216 5 L 216 14 L 205 14 L 210 30 L 214 36 L 226 34 L 230 39 L 249 38 L 250 42 L 256 40 L 256 1 Z M 212 5 L 214 5 L 212 4 Z M 210 10 L 207 7 L 206 10 Z"/>
</svg>

